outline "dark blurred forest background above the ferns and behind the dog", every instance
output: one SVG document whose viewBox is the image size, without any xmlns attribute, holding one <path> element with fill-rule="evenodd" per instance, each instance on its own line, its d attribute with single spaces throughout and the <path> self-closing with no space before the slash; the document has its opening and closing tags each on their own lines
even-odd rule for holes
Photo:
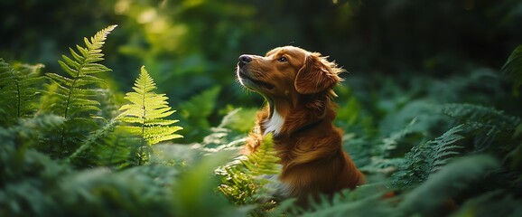
<svg viewBox="0 0 522 217">
<path fill-rule="evenodd" d="M 60 72 L 61 54 L 110 24 L 118 24 L 104 47 L 104 64 L 113 70 L 106 78 L 110 88 L 131 90 L 145 65 L 157 92 L 179 109 L 190 140 L 232 108 L 261 106 L 263 99 L 246 94 L 235 80 L 242 53 L 262 55 L 283 45 L 322 52 L 350 72 L 343 76 L 353 92 L 387 89 L 387 82 L 411 86 L 419 76 L 499 71 L 522 43 L 522 2 L 0 0 L 0 57 Z M 182 109 L 209 95 L 216 103 L 200 114 L 199 129 L 191 129 L 197 114 Z M 359 94 L 361 104 L 371 96 Z"/>
</svg>

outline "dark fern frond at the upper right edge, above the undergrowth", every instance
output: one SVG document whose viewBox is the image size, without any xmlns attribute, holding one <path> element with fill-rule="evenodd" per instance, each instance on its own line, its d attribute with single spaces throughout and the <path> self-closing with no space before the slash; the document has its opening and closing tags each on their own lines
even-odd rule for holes
<svg viewBox="0 0 522 217">
<path fill-rule="evenodd" d="M 513 95 L 519 95 L 519 88 L 522 86 L 522 45 L 508 57 L 508 61 L 502 66 L 502 72 L 513 82 Z"/>
</svg>

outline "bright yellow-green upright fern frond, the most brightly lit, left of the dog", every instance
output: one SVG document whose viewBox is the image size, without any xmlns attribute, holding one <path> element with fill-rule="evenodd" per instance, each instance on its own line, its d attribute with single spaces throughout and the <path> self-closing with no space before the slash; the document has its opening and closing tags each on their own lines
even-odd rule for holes
<svg viewBox="0 0 522 217">
<path fill-rule="evenodd" d="M 178 120 L 163 119 L 172 115 L 175 110 L 168 106 L 168 98 L 164 94 L 153 92 L 156 89 L 154 80 L 144 66 L 133 89 L 135 92 L 128 92 L 125 97 L 131 104 L 123 105 L 120 108 L 123 113 L 119 116 L 120 120 L 131 125 L 121 128 L 140 135 L 149 146 L 182 137 L 175 134 L 182 127 L 171 127 Z"/>
</svg>

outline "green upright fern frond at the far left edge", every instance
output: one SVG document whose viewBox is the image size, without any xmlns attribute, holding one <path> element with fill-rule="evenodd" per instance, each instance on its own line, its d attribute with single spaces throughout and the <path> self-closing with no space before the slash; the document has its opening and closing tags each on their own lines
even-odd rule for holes
<svg viewBox="0 0 522 217">
<path fill-rule="evenodd" d="M 11 126 L 17 118 L 27 118 L 34 113 L 33 103 L 40 95 L 40 70 L 43 65 L 23 65 L 17 71 L 0 58 L 0 126 Z"/>
</svg>

